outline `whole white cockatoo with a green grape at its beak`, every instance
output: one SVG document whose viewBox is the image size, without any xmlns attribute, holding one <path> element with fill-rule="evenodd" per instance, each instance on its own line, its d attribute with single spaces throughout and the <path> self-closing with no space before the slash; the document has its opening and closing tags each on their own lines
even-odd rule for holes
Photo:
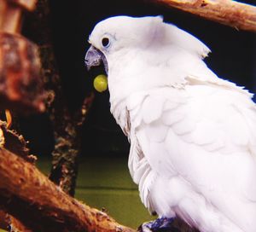
<svg viewBox="0 0 256 232">
<path fill-rule="evenodd" d="M 256 232 L 253 95 L 212 73 L 207 46 L 160 16 L 102 20 L 89 43 L 85 64 L 105 66 L 148 210 L 203 232 Z"/>
</svg>

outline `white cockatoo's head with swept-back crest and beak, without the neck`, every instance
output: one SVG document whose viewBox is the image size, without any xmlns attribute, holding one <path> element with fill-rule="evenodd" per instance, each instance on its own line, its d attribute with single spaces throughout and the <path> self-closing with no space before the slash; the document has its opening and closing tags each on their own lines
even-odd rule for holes
<svg viewBox="0 0 256 232">
<path fill-rule="evenodd" d="M 107 73 L 108 57 L 120 50 L 154 49 L 157 53 L 157 48 L 175 45 L 201 57 L 209 52 L 201 41 L 176 26 L 164 23 L 161 16 L 115 16 L 102 20 L 91 32 L 89 43 L 86 67 L 90 69 L 103 63 Z"/>
</svg>

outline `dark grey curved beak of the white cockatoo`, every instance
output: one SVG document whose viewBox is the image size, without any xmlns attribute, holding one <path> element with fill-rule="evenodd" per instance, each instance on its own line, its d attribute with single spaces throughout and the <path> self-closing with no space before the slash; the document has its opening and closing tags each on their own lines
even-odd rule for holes
<svg viewBox="0 0 256 232">
<path fill-rule="evenodd" d="M 90 70 L 91 67 L 100 66 L 103 63 L 105 72 L 108 74 L 108 62 L 105 55 L 94 46 L 90 46 L 90 49 L 86 52 L 84 57 L 84 64 L 87 67 L 87 70 Z"/>
</svg>

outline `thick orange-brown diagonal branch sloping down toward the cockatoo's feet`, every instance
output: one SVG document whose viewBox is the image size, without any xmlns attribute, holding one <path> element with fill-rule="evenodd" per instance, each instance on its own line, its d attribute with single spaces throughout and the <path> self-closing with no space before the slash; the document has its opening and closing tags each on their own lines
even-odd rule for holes
<svg viewBox="0 0 256 232">
<path fill-rule="evenodd" d="M 65 194 L 24 159 L 0 148 L 0 205 L 32 231 L 131 232 Z"/>
</svg>

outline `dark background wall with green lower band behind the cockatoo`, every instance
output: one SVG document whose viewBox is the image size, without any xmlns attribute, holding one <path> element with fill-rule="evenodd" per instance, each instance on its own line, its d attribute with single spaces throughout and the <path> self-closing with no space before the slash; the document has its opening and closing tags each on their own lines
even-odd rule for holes
<svg viewBox="0 0 256 232">
<path fill-rule="evenodd" d="M 152 1 L 153 2 L 153 1 Z M 244 3 L 253 4 L 254 0 Z M 256 34 L 239 32 L 229 26 L 201 19 L 177 9 L 143 0 L 49 1 L 50 28 L 61 84 L 70 110 L 80 107 L 93 90 L 93 78 L 102 73 L 88 73 L 84 55 L 87 39 L 96 23 L 113 15 L 163 15 L 166 22 L 177 25 L 200 38 L 212 50 L 206 62 L 220 78 L 229 79 L 256 92 Z M 24 24 L 24 34 L 33 40 Z M 82 154 L 76 196 L 90 206 L 105 207 L 121 223 L 136 227 L 148 220 L 131 182 L 127 168 L 129 143 L 109 113 L 108 91 L 96 93 L 95 101 L 83 125 Z M 20 131 L 29 140 L 33 154 L 39 155 L 39 166 L 49 171 L 54 148 L 52 125 L 46 114 L 20 120 Z"/>
</svg>

